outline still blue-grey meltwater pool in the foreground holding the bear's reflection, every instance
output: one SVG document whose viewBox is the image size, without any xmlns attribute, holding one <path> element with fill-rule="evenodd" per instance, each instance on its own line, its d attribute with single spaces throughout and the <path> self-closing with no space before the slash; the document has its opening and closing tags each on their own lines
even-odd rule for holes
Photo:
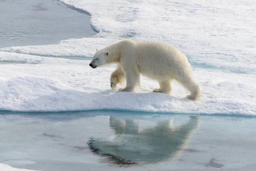
<svg viewBox="0 0 256 171">
<path fill-rule="evenodd" d="M 253 170 L 255 117 L 1 112 L 0 163 L 34 170 Z"/>
</svg>

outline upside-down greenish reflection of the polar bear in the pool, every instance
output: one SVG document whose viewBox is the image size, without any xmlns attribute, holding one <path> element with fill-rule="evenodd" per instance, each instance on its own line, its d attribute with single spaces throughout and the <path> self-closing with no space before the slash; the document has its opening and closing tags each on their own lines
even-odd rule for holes
<svg viewBox="0 0 256 171">
<path fill-rule="evenodd" d="M 139 132 L 139 125 L 132 120 L 111 117 L 109 126 L 115 131 L 115 138 L 91 138 L 87 144 L 93 152 L 107 156 L 117 164 L 161 162 L 177 157 L 186 148 L 200 117 L 190 116 L 189 121 L 176 128 L 171 123 L 164 121 Z"/>
</svg>

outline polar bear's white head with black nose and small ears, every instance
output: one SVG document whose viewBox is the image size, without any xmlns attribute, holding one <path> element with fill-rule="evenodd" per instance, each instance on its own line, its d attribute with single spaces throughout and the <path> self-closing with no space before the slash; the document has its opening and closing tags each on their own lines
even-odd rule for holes
<svg viewBox="0 0 256 171">
<path fill-rule="evenodd" d="M 109 56 L 109 51 L 107 50 L 96 50 L 91 63 L 89 64 L 92 68 L 102 66 L 107 63 L 107 58 Z"/>
</svg>

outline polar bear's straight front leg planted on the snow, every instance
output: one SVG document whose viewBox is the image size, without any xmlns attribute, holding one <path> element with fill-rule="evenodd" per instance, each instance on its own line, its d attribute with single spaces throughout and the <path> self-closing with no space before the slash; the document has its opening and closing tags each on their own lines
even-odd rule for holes
<svg viewBox="0 0 256 171">
<path fill-rule="evenodd" d="M 126 87 L 120 88 L 119 91 L 133 92 L 135 85 L 140 80 L 140 74 L 136 73 L 132 69 L 129 69 L 128 71 L 125 72 L 125 78 L 126 78 L 126 82 L 127 82 Z"/>
</svg>

